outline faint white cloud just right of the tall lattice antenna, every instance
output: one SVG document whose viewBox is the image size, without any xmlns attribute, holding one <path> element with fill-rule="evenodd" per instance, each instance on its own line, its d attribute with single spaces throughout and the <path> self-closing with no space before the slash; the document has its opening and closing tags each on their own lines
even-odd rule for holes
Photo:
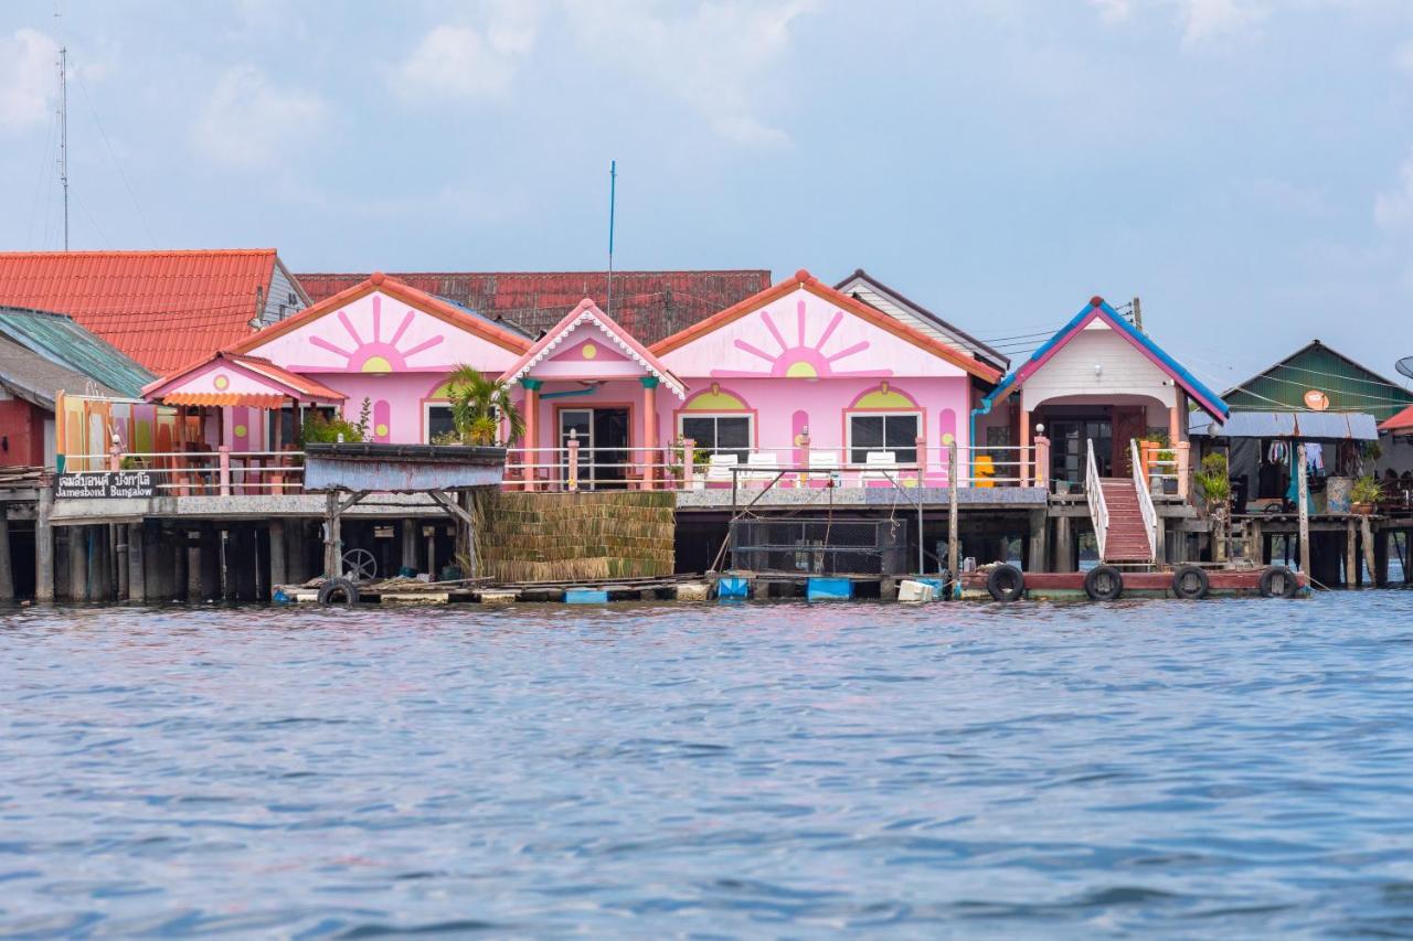
<svg viewBox="0 0 1413 941">
<path fill-rule="evenodd" d="M 223 167 L 270 167 L 321 129 L 325 112 L 318 95 L 277 88 L 256 66 L 237 65 L 216 82 L 192 124 L 191 143 Z"/>
</svg>

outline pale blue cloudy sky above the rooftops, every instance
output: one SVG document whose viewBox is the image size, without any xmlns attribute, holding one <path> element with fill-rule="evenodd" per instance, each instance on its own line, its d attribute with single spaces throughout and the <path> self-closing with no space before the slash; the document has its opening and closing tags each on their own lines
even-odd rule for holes
<svg viewBox="0 0 1413 941">
<path fill-rule="evenodd" d="M 1226 389 L 1413 356 L 1413 0 L 8 0 L 0 250 L 862 267 L 1012 353 L 1089 297 Z"/>
</svg>

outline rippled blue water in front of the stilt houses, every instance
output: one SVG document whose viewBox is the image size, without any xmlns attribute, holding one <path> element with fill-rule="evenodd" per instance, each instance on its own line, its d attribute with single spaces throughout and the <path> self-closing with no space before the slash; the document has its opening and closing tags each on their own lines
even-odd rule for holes
<svg viewBox="0 0 1413 941">
<path fill-rule="evenodd" d="M 1413 931 L 1407 592 L 0 625 L 0 935 Z"/>
</svg>

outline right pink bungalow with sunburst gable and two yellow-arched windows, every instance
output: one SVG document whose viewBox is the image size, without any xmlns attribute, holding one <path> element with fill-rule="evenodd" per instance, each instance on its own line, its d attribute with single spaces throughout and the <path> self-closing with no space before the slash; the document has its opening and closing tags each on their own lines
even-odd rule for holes
<svg viewBox="0 0 1413 941">
<path fill-rule="evenodd" d="M 745 463 L 928 483 L 945 483 L 942 451 L 955 441 L 965 454 L 968 414 L 1000 379 L 804 270 L 651 352 L 691 390 L 660 406 L 673 437 Z"/>
</svg>

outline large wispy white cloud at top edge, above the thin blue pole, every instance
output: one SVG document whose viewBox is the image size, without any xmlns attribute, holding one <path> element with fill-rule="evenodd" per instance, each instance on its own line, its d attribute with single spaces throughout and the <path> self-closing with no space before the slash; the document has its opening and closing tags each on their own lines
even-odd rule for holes
<svg viewBox="0 0 1413 941">
<path fill-rule="evenodd" d="M 780 99 L 774 72 L 790 51 L 790 25 L 812 7 L 814 0 L 706 0 L 684 11 L 622 0 L 571 3 L 567 13 L 589 52 L 682 102 L 716 134 L 780 144 L 788 134 L 757 109 Z"/>
</svg>

